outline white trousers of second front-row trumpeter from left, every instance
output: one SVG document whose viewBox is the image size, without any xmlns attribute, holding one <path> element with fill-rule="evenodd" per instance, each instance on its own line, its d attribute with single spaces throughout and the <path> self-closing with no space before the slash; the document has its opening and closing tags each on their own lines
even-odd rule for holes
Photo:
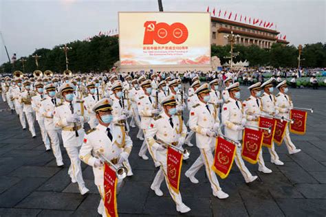
<svg viewBox="0 0 326 217">
<path fill-rule="evenodd" d="M 165 178 L 166 186 L 168 187 L 168 190 L 170 192 L 170 195 L 171 195 L 173 201 L 175 202 L 176 205 L 181 205 L 182 197 L 181 197 L 180 191 L 179 191 L 179 194 L 177 194 L 177 192 L 175 192 L 169 186 L 169 179 L 168 179 L 167 172 L 166 172 L 166 161 L 160 162 L 160 164 L 161 164 L 160 170 L 157 171 L 157 174 L 155 175 L 155 178 L 154 178 L 151 186 L 153 187 L 154 190 L 160 189 L 161 183 L 162 183 L 163 179 Z"/>
</svg>

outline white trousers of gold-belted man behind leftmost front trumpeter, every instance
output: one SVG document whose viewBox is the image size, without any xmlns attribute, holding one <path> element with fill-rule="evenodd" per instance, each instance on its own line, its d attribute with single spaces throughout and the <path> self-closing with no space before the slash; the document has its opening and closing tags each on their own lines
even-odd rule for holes
<svg viewBox="0 0 326 217">
<path fill-rule="evenodd" d="M 85 182 L 83 180 L 83 174 L 80 167 L 80 159 L 79 159 L 79 147 L 65 147 L 67 150 L 67 154 L 70 159 L 70 166 L 68 170 L 68 174 L 72 179 L 75 179 L 78 183 L 79 190 L 85 186 Z"/>
</svg>

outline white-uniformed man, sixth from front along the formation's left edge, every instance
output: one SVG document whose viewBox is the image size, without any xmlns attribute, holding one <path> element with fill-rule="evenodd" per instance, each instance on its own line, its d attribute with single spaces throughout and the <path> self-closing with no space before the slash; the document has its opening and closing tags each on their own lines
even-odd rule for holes
<svg viewBox="0 0 326 217">
<path fill-rule="evenodd" d="M 14 110 L 16 111 L 17 115 L 19 116 L 19 120 L 21 122 L 21 126 L 23 127 L 23 130 L 26 129 L 26 119 L 25 115 L 23 113 L 23 104 L 21 102 L 21 93 L 23 92 L 23 87 L 21 87 L 21 78 L 16 78 L 14 80 L 13 87 L 10 91 L 11 96 L 10 99 L 14 101 Z"/>
</svg>

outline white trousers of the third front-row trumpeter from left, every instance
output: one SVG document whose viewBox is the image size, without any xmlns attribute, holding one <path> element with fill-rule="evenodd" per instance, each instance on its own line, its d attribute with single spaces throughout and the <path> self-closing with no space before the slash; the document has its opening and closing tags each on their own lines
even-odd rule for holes
<svg viewBox="0 0 326 217">
<path fill-rule="evenodd" d="M 218 192 L 221 190 L 221 187 L 219 187 L 219 181 L 217 180 L 217 176 L 215 172 L 212 170 L 212 165 L 214 163 L 214 157 L 212 154 L 211 148 L 199 148 L 200 155 L 191 165 L 191 168 L 187 170 L 187 173 L 189 176 L 195 176 L 195 174 L 198 172 L 200 168 L 202 168 L 203 165 L 205 165 L 206 174 L 208 177 L 208 180 L 210 181 L 210 187 L 212 187 L 213 192 Z"/>
</svg>

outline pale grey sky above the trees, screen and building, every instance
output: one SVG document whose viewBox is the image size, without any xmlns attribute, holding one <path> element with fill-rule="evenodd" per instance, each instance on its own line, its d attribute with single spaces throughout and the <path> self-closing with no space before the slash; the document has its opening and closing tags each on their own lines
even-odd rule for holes
<svg viewBox="0 0 326 217">
<path fill-rule="evenodd" d="M 325 0 L 162 0 L 164 11 L 232 11 L 274 22 L 291 44 L 326 42 Z M 118 27 L 118 11 L 157 11 L 157 0 L 0 0 L 0 29 L 10 58 Z M 132 24 L 131 24 L 132 25 Z M 8 61 L 0 42 L 0 64 Z"/>
</svg>

